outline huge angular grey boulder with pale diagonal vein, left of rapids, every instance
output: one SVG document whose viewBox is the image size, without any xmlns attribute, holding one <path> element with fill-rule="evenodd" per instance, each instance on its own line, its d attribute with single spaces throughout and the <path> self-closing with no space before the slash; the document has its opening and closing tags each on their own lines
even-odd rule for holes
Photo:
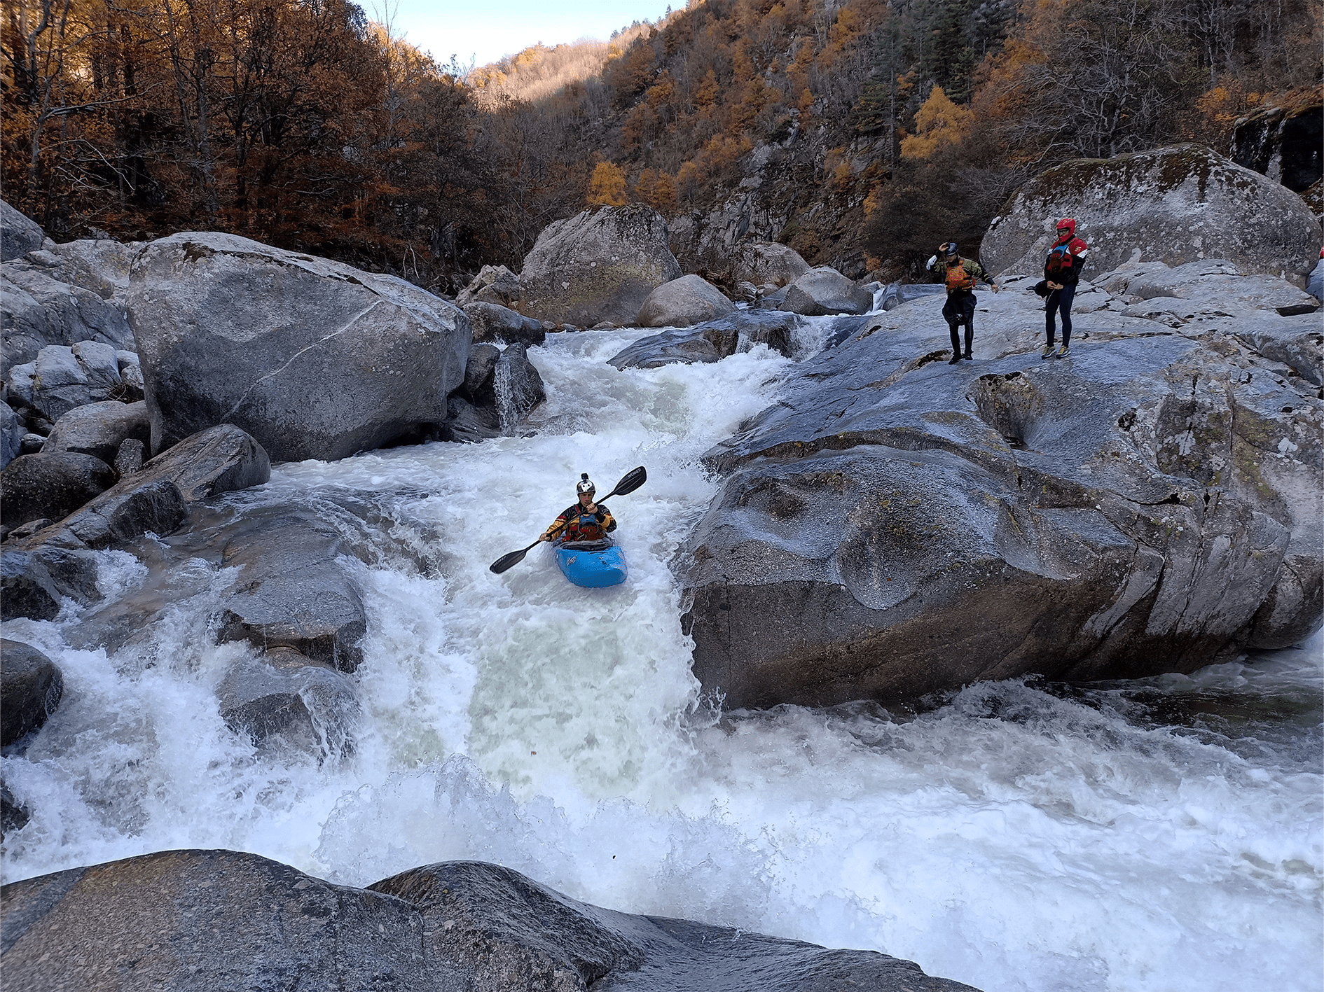
<svg viewBox="0 0 1324 992">
<path fill-rule="evenodd" d="M 463 312 L 389 275 L 185 233 L 147 245 L 127 292 L 152 451 L 218 423 L 278 462 L 338 459 L 446 417 Z"/>
</svg>

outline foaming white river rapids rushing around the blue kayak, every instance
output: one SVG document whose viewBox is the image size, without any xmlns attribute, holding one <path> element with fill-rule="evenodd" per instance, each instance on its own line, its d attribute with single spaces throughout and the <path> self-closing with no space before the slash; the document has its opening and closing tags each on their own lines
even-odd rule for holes
<svg viewBox="0 0 1324 992">
<path fill-rule="evenodd" d="M 196 561 L 142 643 L 69 645 L 79 611 L 4 636 L 65 675 L 0 757 L 32 812 L 5 881 L 171 848 L 250 850 L 336 882 L 481 858 L 580 899 L 886 951 L 986 992 L 1324 988 L 1321 640 L 1068 689 L 916 708 L 723 714 L 690 673 L 670 561 L 716 492 L 700 455 L 776 397 L 763 347 L 618 372 L 646 332 L 552 335 L 528 436 L 273 470 L 238 508 L 387 508 L 354 562 L 368 610 L 355 747 L 254 749 L 214 689 L 253 649 L 208 630 L 232 575 Z M 629 581 L 580 590 L 532 541 L 589 472 Z M 421 563 L 420 563 L 421 562 Z M 102 554 L 101 585 L 146 567 Z"/>
</svg>

